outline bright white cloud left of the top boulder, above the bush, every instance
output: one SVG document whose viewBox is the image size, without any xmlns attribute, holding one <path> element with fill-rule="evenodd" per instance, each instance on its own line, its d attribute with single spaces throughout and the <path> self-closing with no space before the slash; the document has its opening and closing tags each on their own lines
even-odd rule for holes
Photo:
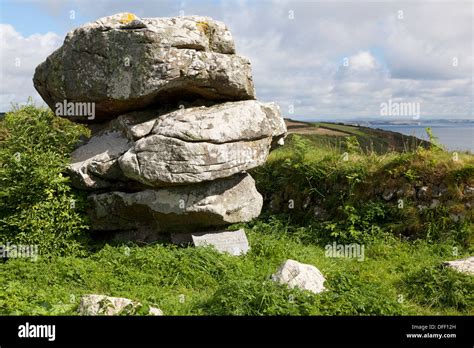
<svg viewBox="0 0 474 348">
<path fill-rule="evenodd" d="M 0 24 L 0 111 L 8 111 L 12 103 L 24 103 L 30 96 L 42 103 L 33 87 L 33 74 L 61 42 L 55 33 L 23 37 L 13 26 Z"/>
</svg>

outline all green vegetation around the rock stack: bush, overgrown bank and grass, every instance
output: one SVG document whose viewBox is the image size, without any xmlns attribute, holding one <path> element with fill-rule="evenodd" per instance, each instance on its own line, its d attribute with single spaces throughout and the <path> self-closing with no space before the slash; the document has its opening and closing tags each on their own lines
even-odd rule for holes
<svg viewBox="0 0 474 348">
<path fill-rule="evenodd" d="M 337 147 L 290 136 L 253 173 L 264 212 L 233 226 L 245 228 L 251 245 L 233 257 L 212 248 L 86 239 L 84 199 L 65 174 L 82 135 L 83 127 L 33 106 L 0 122 L 0 245 L 40 246 L 37 261 L 0 263 L 0 315 L 76 315 L 80 297 L 91 293 L 140 301 L 143 310 L 131 315 L 149 306 L 165 315 L 474 314 L 473 278 L 441 266 L 473 253 L 460 192 L 473 184 L 470 154 L 377 154 L 361 150 L 358 137 Z M 419 209 L 407 196 L 400 207 L 381 198 L 404 185 L 440 182 L 453 206 Z M 454 221 L 454 213 L 465 218 Z M 363 261 L 328 257 L 325 246 L 334 242 L 364 246 Z M 327 291 L 271 281 L 286 259 L 317 266 Z"/>
</svg>

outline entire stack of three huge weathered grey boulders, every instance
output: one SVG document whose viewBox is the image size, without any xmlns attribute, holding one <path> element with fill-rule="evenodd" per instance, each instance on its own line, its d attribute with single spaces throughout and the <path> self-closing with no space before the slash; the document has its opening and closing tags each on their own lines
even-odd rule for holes
<svg viewBox="0 0 474 348">
<path fill-rule="evenodd" d="M 90 103 L 72 154 L 92 228 L 152 241 L 249 221 L 262 196 L 247 170 L 282 143 L 279 108 L 255 100 L 250 62 L 207 17 L 117 14 L 70 32 L 37 68 L 46 103 Z M 77 110 L 77 109 L 74 109 Z"/>
</svg>

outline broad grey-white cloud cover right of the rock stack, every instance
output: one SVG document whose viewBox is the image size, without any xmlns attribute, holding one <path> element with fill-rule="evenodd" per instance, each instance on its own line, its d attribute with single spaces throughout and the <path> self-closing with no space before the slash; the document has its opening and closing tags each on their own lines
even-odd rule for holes
<svg viewBox="0 0 474 348">
<path fill-rule="evenodd" d="M 253 62 L 259 98 L 279 102 L 287 116 L 377 116 L 380 102 L 390 98 L 419 101 L 425 116 L 473 116 L 468 3 L 286 1 L 228 7 L 222 19 L 238 51 Z"/>
</svg>

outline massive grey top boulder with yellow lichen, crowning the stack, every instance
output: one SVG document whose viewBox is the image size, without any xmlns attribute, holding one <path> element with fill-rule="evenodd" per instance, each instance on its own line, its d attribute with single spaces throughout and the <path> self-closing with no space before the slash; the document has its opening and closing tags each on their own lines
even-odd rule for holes
<svg viewBox="0 0 474 348">
<path fill-rule="evenodd" d="M 234 53 L 230 32 L 210 18 L 117 14 L 68 33 L 33 81 L 53 110 L 64 100 L 95 103 L 93 122 L 196 97 L 254 99 L 250 62 Z"/>
</svg>

